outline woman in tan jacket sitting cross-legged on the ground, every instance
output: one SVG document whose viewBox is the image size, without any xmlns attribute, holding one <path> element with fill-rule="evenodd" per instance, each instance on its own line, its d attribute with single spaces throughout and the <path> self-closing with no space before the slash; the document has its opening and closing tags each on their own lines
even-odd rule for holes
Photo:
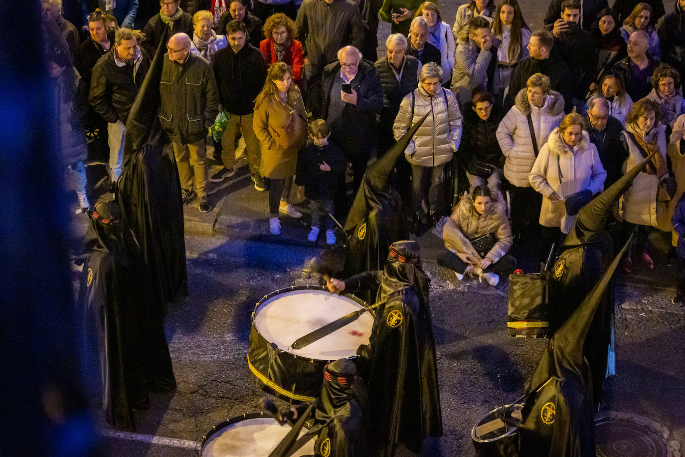
<svg viewBox="0 0 685 457">
<path fill-rule="evenodd" d="M 445 223 L 443 240 L 447 251 L 438 254 L 438 264 L 453 270 L 458 280 L 476 273 L 497 286 L 498 273 L 510 273 L 516 264 L 507 255 L 513 237 L 504 204 L 493 199 L 488 186 L 462 197 Z"/>
</svg>

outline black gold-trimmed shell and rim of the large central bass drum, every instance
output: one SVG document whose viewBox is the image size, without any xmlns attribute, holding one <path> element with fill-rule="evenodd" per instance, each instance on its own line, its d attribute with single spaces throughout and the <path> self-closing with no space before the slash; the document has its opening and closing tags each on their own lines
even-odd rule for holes
<svg viewBox="0 0 685 457">
<path fill-rule="evenodd" d="M 263 391 L 271 393 L 286 402 L 314 402 L 321 395 L 323 384 L 323 367 L 333 360 L 320 360 L 303 358 L 282 351 L 260 334 L 254 323 L 254 314 L 265 299 L 269 299 L 278 293 L 297 291 L 301 289 L 325 290 L 319 286 L 293 286 L 287 289 L 275 291 L 266 295 L 256 305 L 253 312 L 252 325 L 247 349 L 247 363 L 250 371 L 258 379 Z M 346 295 L 348 298 L 366 306 L 358 297 Z M 373 316 L 373 311 L 369 311 Z M 357 362 L 357 357 L 349 358 Z"/>
</svg>

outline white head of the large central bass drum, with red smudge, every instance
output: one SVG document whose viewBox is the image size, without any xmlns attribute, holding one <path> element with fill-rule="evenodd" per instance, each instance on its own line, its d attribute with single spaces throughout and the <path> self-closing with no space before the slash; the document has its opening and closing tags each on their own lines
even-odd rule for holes
<svg viewBox="0 0 685 457">
<path fill-rule="evenodd" d="M 286 351 L 297 338 L 362 308 L 353 299 L 328 291 L 287 291 L 264 300 L 255 313 L 254 325 L 266 341 Z M 373 316 L 364 312 L 336 332 L 288 353 L 315 360 L 353 357 L 360 345 L 369 344 L 371 328 Z"/>
</svg>

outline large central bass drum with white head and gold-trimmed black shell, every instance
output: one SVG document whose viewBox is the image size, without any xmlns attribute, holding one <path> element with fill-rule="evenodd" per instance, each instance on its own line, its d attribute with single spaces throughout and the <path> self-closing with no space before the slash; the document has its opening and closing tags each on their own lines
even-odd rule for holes
<svg viewBox="0 0 685 457">
<path fill-rule="evenodd" d="M 319 286 L 292 286 L 265 295 L 252 313 L 250 371 L 266 392 L 286 401 L 313 402 L 321 393 L 323 367 L 340 358 L 356 358 L 357 348 L 369 344 L 373 311 L 302 349 L 290 345 L 364 308 L 366 303 L 354 295 L 336 295 Z"/>
</svg>

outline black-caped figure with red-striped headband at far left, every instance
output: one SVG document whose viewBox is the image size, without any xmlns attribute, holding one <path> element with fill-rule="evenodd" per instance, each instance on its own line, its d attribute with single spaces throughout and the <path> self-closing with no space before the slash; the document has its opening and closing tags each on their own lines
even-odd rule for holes
<svg viewBox="0 0 685 457">
<path fill-rule="evenodd" d="M 90 373 L 100 373 L 108 423 L 135 430 L 133 406 L 149 402 L 149 388 L 173 383 L 171 357 L 161 314 L 140 306 L 149 294 L 119 208 L 113 201 L 98 203 L 92 216 L 79 293 L 86 351 L 97 352 L 99 362 Z"/>
</svg>

